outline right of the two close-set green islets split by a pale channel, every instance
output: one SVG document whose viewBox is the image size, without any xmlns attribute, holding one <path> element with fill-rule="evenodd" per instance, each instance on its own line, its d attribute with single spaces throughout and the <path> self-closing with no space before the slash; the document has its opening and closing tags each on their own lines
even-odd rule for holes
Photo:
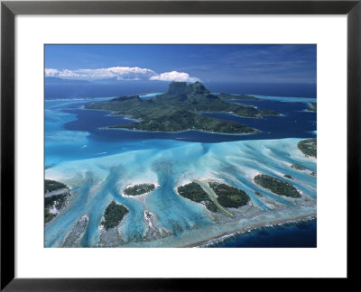
<svg viewBox="0 0 361 292">
<path fill-rule="evenodd" d="M 236 187 L 216 182 L 210 182 L 209 187 L 217 194 L 217 201 L 219 205 L 222 205 L 223 207 L 237 208 L 241 205 L 246 205 L 249 202 L 249 196 L 245 194 L 245 191 Z"/>
</svg>

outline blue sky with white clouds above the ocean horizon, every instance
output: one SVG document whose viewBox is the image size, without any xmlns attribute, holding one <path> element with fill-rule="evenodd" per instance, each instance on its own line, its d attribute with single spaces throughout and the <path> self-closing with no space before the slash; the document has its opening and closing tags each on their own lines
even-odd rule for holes
<svg viewBox="0 0 361 292">
<path fill-rule="evenodd" d="M 45 45 L 68 79 L 316 83 L 316 45 Z"/>
</svg>

